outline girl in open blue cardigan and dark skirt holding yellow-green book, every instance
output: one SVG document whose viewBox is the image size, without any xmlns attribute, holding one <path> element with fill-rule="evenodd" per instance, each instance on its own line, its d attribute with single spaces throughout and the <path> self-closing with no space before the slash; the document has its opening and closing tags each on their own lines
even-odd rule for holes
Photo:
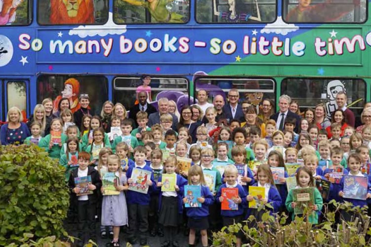
<svg viewBox="0 0 371 247">
<path fill-rule="evenodd" d="M 174 241 L 174 236 L 177 233 L 178 225 L 183 219 L 183 194 L 187 180 L 175 173 L 177 165 L 177 158 L 170 156 L 164 162 L 164 170 L 162 172 L 162 174 L 175 174 L 176 178 L 174 188 L 170 188 L 172 191 L 162 191 L 159 196 L 160 214 L 158 216 L 158 223 L 164 227 L 165 241 L 161 244 L 163 247 L 171 245 L 174 247 L 179 246 L 178 242 Z M 165 184 L 165 181 L 162 181 L 162 176 L 157 182 L 158 189 Z"/>
</svg>

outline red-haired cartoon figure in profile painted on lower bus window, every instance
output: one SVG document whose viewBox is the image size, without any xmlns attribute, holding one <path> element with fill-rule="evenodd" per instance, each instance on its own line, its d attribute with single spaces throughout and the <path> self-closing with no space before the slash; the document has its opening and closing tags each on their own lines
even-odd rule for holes
<svg viewBox="0 0 371 247">
<path fill-rule="evenodd" d="M 70 110 L 72 113 L 80 109 L 80 103 L 78 102 L 78 93 L 80 92 L 80 82 L 75 78 L 67 79 L 65 82 L 65 88 L 61 92 L 62 95 L 58 95 L 53 102 L 53 113 L 58 111 L 58 104 L 62 98 L 68 98 L 70 100 Z"/>
</svg>

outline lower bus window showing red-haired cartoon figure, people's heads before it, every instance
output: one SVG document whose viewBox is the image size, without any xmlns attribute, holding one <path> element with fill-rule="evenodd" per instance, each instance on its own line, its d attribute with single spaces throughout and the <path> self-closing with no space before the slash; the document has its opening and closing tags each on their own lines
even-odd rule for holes
<svg viewBox="0 0 371 247">
<path fill-rule="evenodd" d="M 108 100 L 108 83 L 104 76 L 41 75 L 37 78 L 37 103 L 45 98 L 53 100 L 53 113 L 58 111 L 62 98 L 70 99 L 73 112 L 78 109 L 78 96 L 87 94 L 93 115 L 100 115 L 103 103 Z"/>
</svg>

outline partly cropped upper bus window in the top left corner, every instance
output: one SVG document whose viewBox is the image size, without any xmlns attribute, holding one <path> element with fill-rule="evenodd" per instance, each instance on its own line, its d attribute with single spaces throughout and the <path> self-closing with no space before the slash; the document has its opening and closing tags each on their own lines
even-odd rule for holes
<svg viewBox="0 0 371 247">
<path fill-rule="evenodd" d="M 0 0 L 0 26 L 29 25 L 32 21 L 29 0 Z"/>
</svg>

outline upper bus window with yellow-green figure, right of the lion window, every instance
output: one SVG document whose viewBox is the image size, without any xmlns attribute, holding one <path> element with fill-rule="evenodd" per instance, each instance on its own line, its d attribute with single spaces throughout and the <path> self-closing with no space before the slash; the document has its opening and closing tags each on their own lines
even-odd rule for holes
<svg viewBox="0 0 371 247">
<path fill-rule="evenodd" d="M 114 0 L 113 21 L 126 23 L 186 23 L 189 0 Z"/>
</svg>

